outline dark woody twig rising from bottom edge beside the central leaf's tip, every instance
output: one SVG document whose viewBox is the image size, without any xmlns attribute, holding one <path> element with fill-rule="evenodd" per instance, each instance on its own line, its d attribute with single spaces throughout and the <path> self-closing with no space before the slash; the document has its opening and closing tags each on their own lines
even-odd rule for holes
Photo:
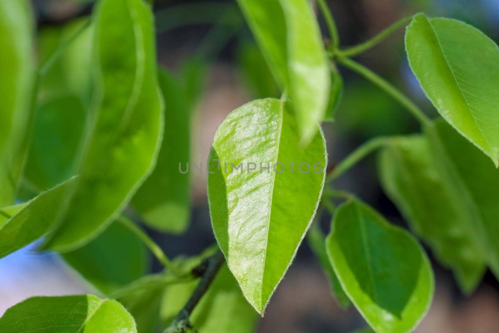
<svg viewBox="0 0 499 333">
<path fill-rule="evenodd" d="M 217 251 L 213 256 L 208 258 L 204 263 L 202 263 L 199 268 L 204 270 L 201 281 L 198 286 L 194 290 L 193 294 L 189 298 L 189 301 L 185 304 L 184 308 L 179 312 L 177 317 L 173 320 L 173 322 L 166 328 L 163 333 L 186 333 L 188 330 L 193 329 L 191 322 L 189 321 L 189 317 L 191 316 L 194 308 L 198 305 L 203 295 L 205 295 L 206 291 L 210 287 L 211 283 L 217 276 L 217 273 L 224 263 L 225 258 L 222 252 Z M 206 268 L 206 269 L 203 269 Z M 193 271 L 199 272 L 200 269 L 195 268 Z M 201 272 L 199 272 L 201 273 Z"/>
</svg>

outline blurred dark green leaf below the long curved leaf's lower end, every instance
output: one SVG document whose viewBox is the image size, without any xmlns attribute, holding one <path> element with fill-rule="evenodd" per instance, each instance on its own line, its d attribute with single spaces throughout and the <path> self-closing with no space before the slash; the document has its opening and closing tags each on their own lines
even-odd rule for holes
<svg viewBox="0 0 499 333">
<path fill-rule="evenodd" d="M 113 222 L 96 239 L 62 258 L 105 295 L 147 273 L 144 244 L 120 222 Z"/>
</svg>

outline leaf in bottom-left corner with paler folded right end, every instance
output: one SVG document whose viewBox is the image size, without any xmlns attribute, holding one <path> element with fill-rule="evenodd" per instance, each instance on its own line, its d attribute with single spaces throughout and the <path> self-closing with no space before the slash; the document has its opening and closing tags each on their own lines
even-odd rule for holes
<svg viewBox="0 0 499 333">
<path fill-rule="evenodd" d="M 93 295 L 27 299 L 3 314 L 0 327 L 2 333 L 137 333 L 121 304 Z"/>
</svg>

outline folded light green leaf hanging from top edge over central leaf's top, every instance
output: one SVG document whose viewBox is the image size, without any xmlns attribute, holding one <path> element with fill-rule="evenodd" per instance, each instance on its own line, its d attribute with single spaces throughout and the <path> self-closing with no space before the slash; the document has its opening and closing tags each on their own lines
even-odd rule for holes
<svg viewBox="0 0 499 333">
<path fill-rule="evenodd" d="M 307 145 L 325 116 L 329 65 L 307 0 L 238 0 L 277 83 L 295 108 L 300 143 Z"/>
</svg>

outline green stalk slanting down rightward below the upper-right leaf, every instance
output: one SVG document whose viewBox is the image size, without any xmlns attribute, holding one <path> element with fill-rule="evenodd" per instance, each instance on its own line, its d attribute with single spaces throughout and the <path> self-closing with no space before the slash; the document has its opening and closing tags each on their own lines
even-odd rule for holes
<svg viewBox="0 0 499 333">
<path fill-rule="evenodd" d="M 414 104 L 413 101 L 411 101 L 406 95 L 400 92 L 400 90 L 391 85 L 387 80 L 371 71 L 369 68 L 350 58 L 338 58 L 337 61 L 339 64 L 349 68 L 350 70 L 371 81 L 381 90 L 384 90 L 392 98 L 396 99 L 400 104 L 402 104 L 409 112 L 411 112 L 412 115 L 415 116 L 422 124 L 429 124 L 431 122 L 430 118 L 428 118 L 428 116 L 424 114 L 424 112 L 416 104 Z"/>
</svg>

